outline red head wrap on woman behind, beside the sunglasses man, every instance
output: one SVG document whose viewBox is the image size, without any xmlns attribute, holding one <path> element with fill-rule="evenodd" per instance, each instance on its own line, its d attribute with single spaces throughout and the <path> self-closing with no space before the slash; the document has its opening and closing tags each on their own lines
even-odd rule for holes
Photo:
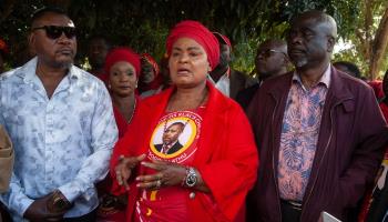
<svg viewBox="0 0 388 222">
<path fill-rule="evenodd" d="M 135 68 L 136 77 L 140 75 L 140 57 L 134 51 L 132 51 L 130 48 L 116 48 L 111 50 L 106 58 L 105 58 L 105 64 L 104 70 L 106 74 L 109 75 L 109 72 L 111 70 L 111 67 L 120 61 L 129 62 Z"/>
</svg>

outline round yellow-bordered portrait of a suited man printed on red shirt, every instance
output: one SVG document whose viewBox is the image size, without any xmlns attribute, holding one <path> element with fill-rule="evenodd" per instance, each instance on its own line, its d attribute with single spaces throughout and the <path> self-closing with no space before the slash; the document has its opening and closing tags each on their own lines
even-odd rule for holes
<svg viewBox="0 0 388 222">
<path fill-rule="evenodd" d="M 156 125 L 151 141 L 151 159 L 182 162 L 196 150 L 201 117 L 196 113 L 173 112 L 164 115 Z"/>
</svg>

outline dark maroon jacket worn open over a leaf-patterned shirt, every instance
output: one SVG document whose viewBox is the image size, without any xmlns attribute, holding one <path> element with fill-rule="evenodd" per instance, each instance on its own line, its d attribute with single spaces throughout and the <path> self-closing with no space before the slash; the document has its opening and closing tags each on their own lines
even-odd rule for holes
<svg viewBox="0 0 388 222">
<path fill-rule="evenodd" d="M 248 108 L 261 167 L 248 196 L 247 221 L 282 221 L 276 169 L 292 81 L 293 72 L 266 80 Z M 375 179 L 387 141 L 388 127 L 372 89 L 331 68 L 300 222 L 318 221 L 321 211 L 348 221 L 349 209 Z"/>
</svg>

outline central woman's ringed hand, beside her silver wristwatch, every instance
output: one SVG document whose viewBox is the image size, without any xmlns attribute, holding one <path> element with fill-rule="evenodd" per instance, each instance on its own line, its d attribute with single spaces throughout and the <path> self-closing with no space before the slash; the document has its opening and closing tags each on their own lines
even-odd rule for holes
<svg viewBox="0 0 388 222">
<path fill-rule="evenodd" d="M 181 185 L 186 176 L 186 168 L 176 163 L 153 160 L 152 162 L 142 162 L 142 165 L 156 170 L 156 173 L 139 175 L 136 178 L 137 188 L 159 190 L 162 186 Z"/>
</svg>

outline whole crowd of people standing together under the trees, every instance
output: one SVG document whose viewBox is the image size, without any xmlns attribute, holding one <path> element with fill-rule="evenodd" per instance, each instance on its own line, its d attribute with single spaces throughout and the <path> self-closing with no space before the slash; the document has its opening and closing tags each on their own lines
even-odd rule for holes
<svg viewBox="0 0 388 222">
<path fill-rule="evenodd" d="M 93 36 L 85 71 L 69 16 L 34 12 L 33 58 L 0 75 L 0 221 L 388 220 L 388 71 L 372 88 L 331 63 L 325 12 L 289 27 L 255 78 L 193 20 L 160 63 Z"/>
</svg>

